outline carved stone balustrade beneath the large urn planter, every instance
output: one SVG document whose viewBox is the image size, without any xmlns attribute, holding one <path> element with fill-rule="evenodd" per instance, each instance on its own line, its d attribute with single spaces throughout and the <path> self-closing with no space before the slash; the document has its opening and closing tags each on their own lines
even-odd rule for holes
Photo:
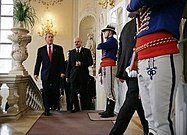
<svg viewBox="0 0 187 135">
<path fill-rule="evenodd" d="M 8 87 L 8 95 L 4 97 L 0 89 L 0 119 L 18 119 L 29 109 L 43 109 L 41 92 L 31 76 L 0 75 L 0 88 L 3 84 Z M 2 101 L 7 101 L 7 111 Z"/>
</svg>

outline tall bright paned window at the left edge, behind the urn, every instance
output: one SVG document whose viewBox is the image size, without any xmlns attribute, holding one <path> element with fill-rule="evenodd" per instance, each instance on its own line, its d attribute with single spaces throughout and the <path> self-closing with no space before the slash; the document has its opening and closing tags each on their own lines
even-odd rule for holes
<svg viewBox="0 0 187 135">
<path fill-rule="evenodd" d="M 0 6 L 0 73 L 8 73 L 12 68 L 12 44 L 7 38 L 13 27 L 13 0 L 1 0 Z"/>
</svg>

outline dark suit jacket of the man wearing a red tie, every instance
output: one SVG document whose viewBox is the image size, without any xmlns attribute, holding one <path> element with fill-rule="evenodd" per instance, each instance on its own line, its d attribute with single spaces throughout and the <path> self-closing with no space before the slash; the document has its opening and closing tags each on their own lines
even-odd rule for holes
<svg viewBox="0 0 187 135">
<path fill-rule="evenodd" d="M 41 79 L 43 81 L 47 80 L 49 77 L 54 80 L 59 79 L 60 74 L 65 73 L 63 48 L 53 44 L 52 61 L 50 62 L 47 45 L 40 47 L 37 53 L 34 75 L 39 75 L 41 65 Z"/>
</svg>

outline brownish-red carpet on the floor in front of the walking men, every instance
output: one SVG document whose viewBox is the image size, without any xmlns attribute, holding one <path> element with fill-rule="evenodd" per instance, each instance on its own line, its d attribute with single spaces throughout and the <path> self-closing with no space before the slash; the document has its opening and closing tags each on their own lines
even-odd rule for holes
<svg viewBox="0 0 187 135">
<path fill-rule="evenodd" d="M 91 121 L 88 113 L 52 111 L 51 116 L 42 115 L 27 135 L 108 135 L 112 121 Z"/>
</svg>

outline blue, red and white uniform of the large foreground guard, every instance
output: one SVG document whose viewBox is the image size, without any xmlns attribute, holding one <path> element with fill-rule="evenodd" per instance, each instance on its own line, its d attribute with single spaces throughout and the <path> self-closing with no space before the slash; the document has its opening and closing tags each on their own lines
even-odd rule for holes
<svg viewBox="0 0 187 135">
<path fill-rule="evenodd" d="M 139 9 L 137 33 L 139 88 L 150 132 L 174 135 L 173 104 L 182 59 L 177 42 L 185 0 L 131 0 L 129 12 Z"/>
</svg>

